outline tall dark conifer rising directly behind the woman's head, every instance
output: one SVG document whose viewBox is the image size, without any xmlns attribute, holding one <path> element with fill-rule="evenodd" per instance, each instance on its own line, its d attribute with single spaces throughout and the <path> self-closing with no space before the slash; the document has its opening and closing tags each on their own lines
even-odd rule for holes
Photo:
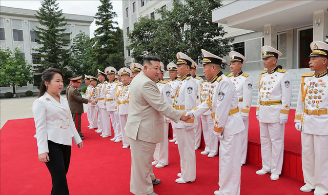
<svg viewBox="0 0 328 195">
<path fill-rule="evenodd" d="M 61 70 L 65 78 L 71 76 L 72 74 L 67 69 L 70 40 L 65 38 L 71 33 L 65 33 L 67 23 L 64 22 L 63 11 L 59 10 L 56 0 L 44 0 L 36 13 L 40 27 L 33 30 L 38 36 L 36 42 L 41 46 L 35 49 L 39 54 L 33 54 L 33 56 L 40 57 L 42 61 L 40 65 L 34 67 L 35 72 L 41 73 L 53 67 Z M 67 82 L 65 79 L 64 81 Z"/>
</svg>

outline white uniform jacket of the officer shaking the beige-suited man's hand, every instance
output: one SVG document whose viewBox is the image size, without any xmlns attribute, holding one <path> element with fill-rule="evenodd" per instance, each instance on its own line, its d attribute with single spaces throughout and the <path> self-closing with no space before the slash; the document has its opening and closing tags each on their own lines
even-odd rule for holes
<svg viewBox="0 0 328 195">
<path fill-rule="evenodd" d="M 238 108 L 237 91 L 230 79 L 219 71 L 209 81 L 208 100 L 192 110 L 197 118 L 207 110 L 211 110 L 214 118 L 214 134 L 231 136 L 245 129 Z"/>
</svg>

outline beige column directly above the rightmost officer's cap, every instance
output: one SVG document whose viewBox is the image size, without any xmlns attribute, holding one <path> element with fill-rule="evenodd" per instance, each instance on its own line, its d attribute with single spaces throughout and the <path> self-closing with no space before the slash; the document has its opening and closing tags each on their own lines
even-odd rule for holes
<svg viewBox="0 0 328 195">
<path fill-rule="evenodd" d="M 313 13 L 313 41 L 325 41 L 328 32 L 328 13 L 319 10 Z"/>
</svg>

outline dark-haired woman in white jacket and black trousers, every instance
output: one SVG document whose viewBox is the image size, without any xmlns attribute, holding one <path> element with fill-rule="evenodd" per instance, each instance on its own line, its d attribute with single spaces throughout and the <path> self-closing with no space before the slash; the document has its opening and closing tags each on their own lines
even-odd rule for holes
<svg viewBox="0 0 328 195">
<path fill-rule="evenodd" d="M 83 142 L 75 128 L 68 101 L 60 96 L 63 73 L 48 68 L 42 73 L 38 99 L 33 102 L 38 158 L 51 174 L 51 194 L 69 194 L 66 173 L 71 159 L 72 138 L 77 147 Z"/>
</svg>

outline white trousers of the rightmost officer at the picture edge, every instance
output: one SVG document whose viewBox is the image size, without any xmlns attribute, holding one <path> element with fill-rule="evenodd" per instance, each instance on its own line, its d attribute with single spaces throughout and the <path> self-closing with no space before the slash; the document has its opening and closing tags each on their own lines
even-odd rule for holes
<svg viewBox="0 0 328 195">
<path fill-rule="evenodd" d="M 304 183 L 328 193 L 328 135 L 301 133 Z"/>
</svg>

